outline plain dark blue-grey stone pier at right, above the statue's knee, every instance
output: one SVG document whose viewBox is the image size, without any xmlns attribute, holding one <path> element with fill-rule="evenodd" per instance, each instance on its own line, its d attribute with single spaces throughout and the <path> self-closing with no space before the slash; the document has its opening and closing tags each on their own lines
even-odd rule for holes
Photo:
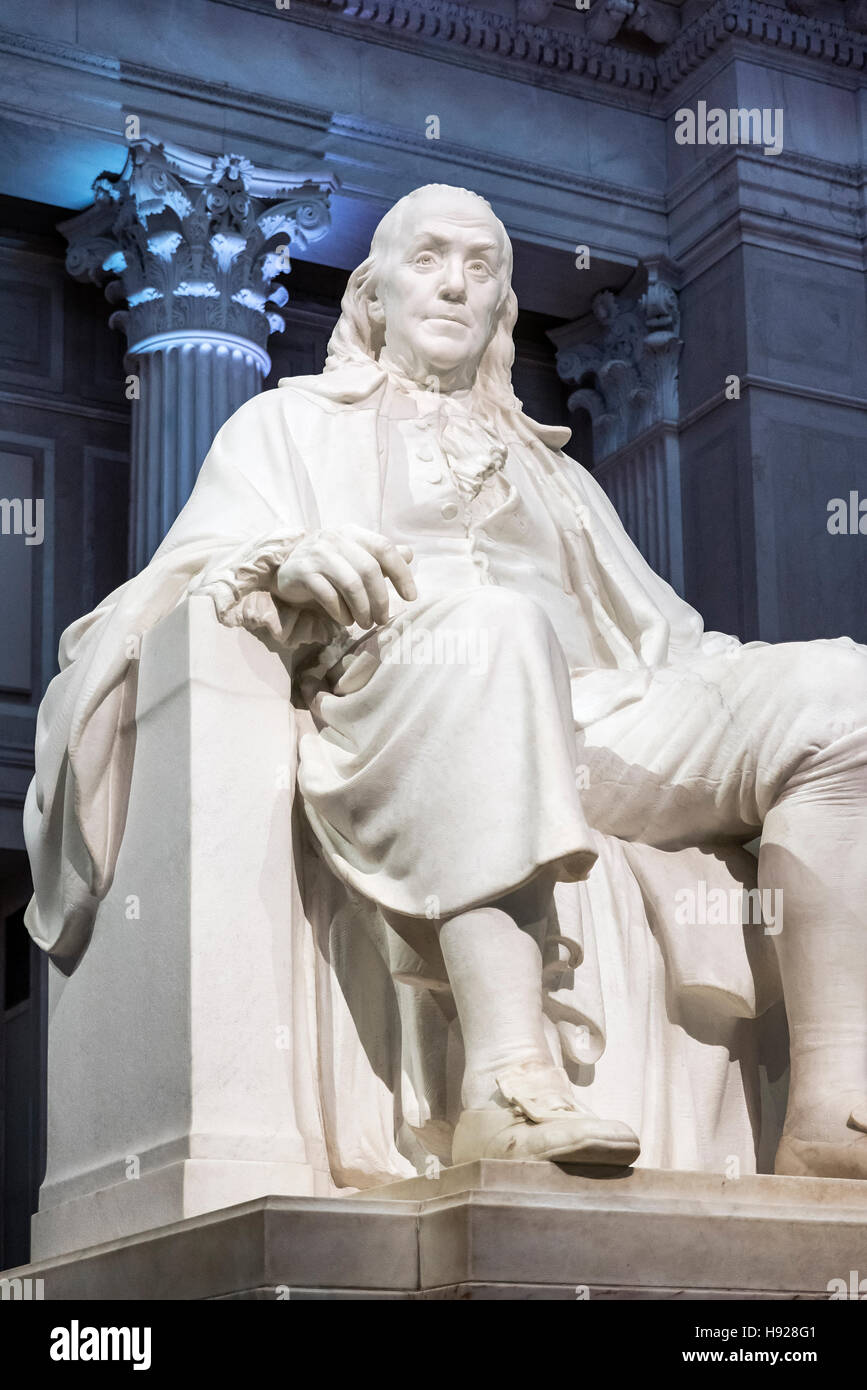
<svg viewBox="0 0 867 1390">
<path fill-rule="evenodd" d="M 745 639 L 867 641 L 867 538 L 828 531 L 867 499 L 863 272 L 742 246 L 681 309 L 686 598 Z"/>
</svg>

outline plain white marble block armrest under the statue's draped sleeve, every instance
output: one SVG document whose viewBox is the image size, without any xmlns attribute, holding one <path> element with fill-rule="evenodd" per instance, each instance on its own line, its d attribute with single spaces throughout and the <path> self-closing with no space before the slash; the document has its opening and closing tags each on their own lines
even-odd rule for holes
<svg viewBox="0 0 867 1390">
<path fill-rule="evenodd" d="M 288 702 L 281 659 L 210 598 L 144 637 L 114 884 L 76 972 L 50 972 L 36 1259 L 333 1190 L 295 1113 Z"/>
</svg>

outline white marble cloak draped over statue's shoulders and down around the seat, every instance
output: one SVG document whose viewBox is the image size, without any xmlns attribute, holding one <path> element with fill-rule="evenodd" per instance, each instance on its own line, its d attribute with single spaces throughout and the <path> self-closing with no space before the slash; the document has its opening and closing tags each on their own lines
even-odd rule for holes
<svg viewBox="0 0 867 1390">
<path fill-rule="evenodd" d="M 288 609 L 263 584 L 310 531 L 381 530 L 385 381 L 375 363 L 345 367 L 289 378 L 245 404 L 220 431 L 150 564 L 64 632 L 61 670 L 39 713 L 25 837 L 35 883 L 26 924 L 65 973 L 100 930 L 124 834 L 142 634 L 190 595 L 210 594 L 222 623 L 247 627 L 289 664 L 314 645 L 339 652 L 345 634 L 335 623 Z M 603 653 L 597 667 L 571 673 L 577 727 L 639 699 L 656 667 L 739 645 L 704 632 L 650 570 L 604 492 L 560 452 L 567 431 L 520 411 L 503 411 L 503 431 L 534 471 L 561 538 L 564 587 Z M 311 727 L 303 709 L 290 706 L 286 717 Z M 588 880 L 556 888 L 545 977 L 552 1049 L 597 1112 L 638 1130 L 641 1162 L 722 1169 L 736 1154 L 749 1172 L 753 1020 L 779 995 L 773 947 L 754 934 L 748 941 L 741 927 L 678 929 L 671 884 L 752 887 L 754 860 L 731 845 L 663 852 L 602 834 L 595 842 Z M 338 1187 L 424 1170 L 428 1154 L 447 1156 L 460 1108 L 460 1034 L 446 983 L 320 860 L 306 862 L 303 877 L 293 930 L 317 947 L 308 966 L 315 1037 L 304 1040 L 318 1098 L 311 1148 L 325 1150 Z M 372 1041 L 365 1019 L 377 1011 Z"/>
</svg>

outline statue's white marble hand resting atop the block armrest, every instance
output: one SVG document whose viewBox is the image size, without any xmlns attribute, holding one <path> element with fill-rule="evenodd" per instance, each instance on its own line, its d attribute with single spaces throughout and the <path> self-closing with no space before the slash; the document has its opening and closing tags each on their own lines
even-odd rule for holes
<svg viewBox="0 0 867 1390">
<path fill-rule="evenodd" d="M 407 603 L 417 598 L 408 545 L 392 545 L 358 525 L 314 531 L 281 564 L 274 592 L 297 607 L 320 607 L 336 623 L 372 627 L 388 623 L 390 580 Z"/>
</svg>

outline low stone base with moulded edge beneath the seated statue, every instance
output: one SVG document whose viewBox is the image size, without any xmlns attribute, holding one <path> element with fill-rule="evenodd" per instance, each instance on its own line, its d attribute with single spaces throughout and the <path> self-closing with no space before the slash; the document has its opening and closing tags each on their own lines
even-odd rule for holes
<svg viewBox="0 0 867 1390">
<path fill-rule="evenodd" d="M 867 1183 L 486 1161 L 267 1197 L 7 1270 L 65 1298 L 827 1300 Z"/>
</svg>

